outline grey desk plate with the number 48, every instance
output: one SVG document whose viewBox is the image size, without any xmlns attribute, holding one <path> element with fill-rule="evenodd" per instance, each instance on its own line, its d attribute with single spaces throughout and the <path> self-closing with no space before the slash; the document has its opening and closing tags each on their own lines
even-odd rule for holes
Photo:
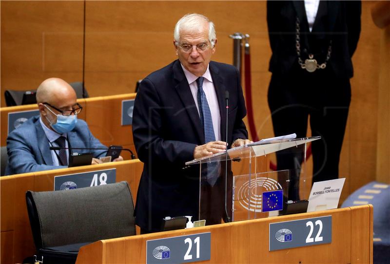
<svg viewBox="0 0 390 264">
<path fill-rule="evenodd" d="M 54 177 L 54 190 L 79 189 L 115 183 L 117 169 L 95 170 Z"/>
</svg>

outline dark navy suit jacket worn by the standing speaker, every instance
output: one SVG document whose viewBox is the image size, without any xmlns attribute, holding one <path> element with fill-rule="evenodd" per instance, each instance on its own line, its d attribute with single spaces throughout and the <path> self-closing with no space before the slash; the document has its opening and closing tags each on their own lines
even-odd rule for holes
<svg viewBox="0 0 390 264">
<path fill-rule="evenodd" d="M 248 137 L 242 119 L 246 115 L 237 69 L 210 62 L 219 110 L 221 140 L 226 141 L 225 91 L 229 91 L 229 145 Z M 194 159 L 196 145 L 205 143 L 199 114 L 178 60 L 144 78 L 133 112 L 133 137 L 139 159 L 144 162 L 140 179 L 136 224 L 158 231 L 165 216 L 198 213 L 199 167 L 183 170 Z"/>
</svg>

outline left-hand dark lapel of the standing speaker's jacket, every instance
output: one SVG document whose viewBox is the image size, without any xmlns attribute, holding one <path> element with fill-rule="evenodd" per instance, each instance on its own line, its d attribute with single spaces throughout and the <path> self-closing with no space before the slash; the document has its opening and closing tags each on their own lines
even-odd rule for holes
<svg viewBox="0 0 390 264">
<path fill-rule="evenodd" d="M 191 94 L 190 86 L 188 85 L 188 81 L 186 76 L 184 75 L 183 69 L 181 68 L 179 60 L 176 60 L 173 66 L 174 78 L 176 80 L 175 89 L 177 94 L 183 103 L 190 119 L 195 127 L 195 132 L 199 138 L 200 142 L 204 142 L 204 132 L 202 130 L 202 126 L 200 124 L 199 113 L 196 109 L 194 97 Z"/>
</svg>

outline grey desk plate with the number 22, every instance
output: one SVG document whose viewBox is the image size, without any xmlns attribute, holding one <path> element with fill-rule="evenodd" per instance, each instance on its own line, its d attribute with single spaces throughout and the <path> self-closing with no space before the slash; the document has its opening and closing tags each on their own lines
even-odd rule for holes
<svg viewBox="0 0 390 264">
<path fill-rule="evenodd" d="M 270 251 L 331 242 L 331 215 L 270 224 Z"/>
</svg>

